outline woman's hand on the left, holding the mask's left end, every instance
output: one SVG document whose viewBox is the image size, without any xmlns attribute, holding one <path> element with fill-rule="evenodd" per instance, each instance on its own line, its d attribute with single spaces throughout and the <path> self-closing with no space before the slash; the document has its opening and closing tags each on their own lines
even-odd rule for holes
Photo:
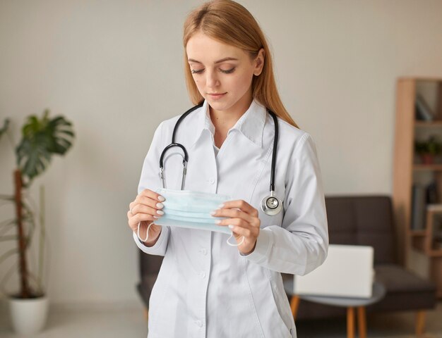
<svg viewBox="0 0 442 338">
<path fill-rule="evenodd" d="M 165 198 L 150 189 L 144 189 L 136 199 L 129 204 L 129 211 L 127 218 L 129 220 L 129 227 L 137 233 L 138 223 L 140 224 L 140 237 L 145 238 L 148 226 L 157 218 L 160 218 L 164 213 L 162 201 Z M 157 242 L 161 233 L 161 225 L 152 224 L 149 228 L 149 237 L 146 242 L 147 246 L 153 246 Z"/>
</svg>

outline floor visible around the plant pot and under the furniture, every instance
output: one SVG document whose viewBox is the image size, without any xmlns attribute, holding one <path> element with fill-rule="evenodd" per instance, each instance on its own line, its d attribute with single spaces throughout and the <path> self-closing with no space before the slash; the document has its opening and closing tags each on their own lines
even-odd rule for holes
<svg viewBox="0 0 442 338">
<path fill-rule="evenodd" d="M 442 303 L 426 316 L 425 338 L 442 338 Z M 0 313 L 0 337 L 17 338 L 9 325 L 8 313 Z M 413 313 L 367 314 L 367 337 L 412 338 Z M 298 338 L 345 338 L 345 318 L 340 320 L 313 320 L 297 323 Z M 141 304 L 126 308 L 54 308 L 46 330 L 35 338 L 78 337 L 146 337 L 147 327 Z M 422 338 L 423 338 L 422 337 Z"/>
</svg>

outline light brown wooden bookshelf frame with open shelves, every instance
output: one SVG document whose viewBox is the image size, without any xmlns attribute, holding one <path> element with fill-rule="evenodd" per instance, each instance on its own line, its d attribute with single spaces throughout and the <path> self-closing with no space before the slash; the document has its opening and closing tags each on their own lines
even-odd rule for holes
<svg viewBox="0 0 442 338">
<path fill-rule="evenodd" d="M 427 89 L 434 89 L 434 92 L 425 92 Z M 430 105 L 434 120 L 417 120 L 415 106 L 418 93 L 426 94 L 425 99 L 434 99 Z M 433 215 L 441 214 L 442 218 L 442 163 L 419 163 L 419 157 L 414 152 L 414 142 L 421 135 L 437 134 L 442 142 L 442 78 L 399 78 L 395 106 L 393 207 L 400 244 L 400 261 L 409 268 L 411 251 L 423 253 L 429 260 L 428 277 L 436 283 L 438 297 L 442 298 L 442 248 L 434 248 L 433 244 Z M 420 177 L 431 177 L 436 182 L 436 203 L 440 206 L 433 206 L 425 211 L 426 223 L 423 229 L 412 229 L 412 187 Z"/>
</svg>

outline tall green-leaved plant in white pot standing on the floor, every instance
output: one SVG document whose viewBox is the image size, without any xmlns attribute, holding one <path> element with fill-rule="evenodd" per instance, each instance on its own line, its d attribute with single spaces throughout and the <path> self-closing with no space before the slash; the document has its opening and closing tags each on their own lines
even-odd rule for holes
<svg viewBox="0 0 442 338">
<path fill-rule="evenodd" d="M 7 134 L 13 146 L 12 135 L 8 132 L 9 120 L 0 129 L 0 139 Z M 18 256 L 18 280 L 20 285 L 13 294 L 4 292 L 4 284 L 14 270 L 8 270 L 0 280 L 2 292 L 8 298 L 13 329 L 21 334 L 32 334 L 43 329 L 47 320 L 49 302 L 42 285 L 44 262 L 44 189 L 40 186 L 40 215 L 31 207 L 28 194 L 35 177 L 44 173 L 53 155 L 64 155 L 71 148 L 74 133 L 72 123 L 62 116 L 49 118 L 45 110 L 42 118 L 30 115 L 21 130 L 20 143 L 13 148 L 16 154 L 16 170 L 13 171 L 14 194 L 1 194 L 0 199 L 14 204 L 15 217 L 0 220 L 0 241 L 13 241 L 16 248 L 6 253 L 0 251 L 0 263 Z M 15 234 L 12 231 L 16 230 Z M 31 239 L 40 230 L 38 246 L 38 274 L 31 273 L 28 254 Z M 13 265 L 13 268 L 15 266 Z"/>
</svg>

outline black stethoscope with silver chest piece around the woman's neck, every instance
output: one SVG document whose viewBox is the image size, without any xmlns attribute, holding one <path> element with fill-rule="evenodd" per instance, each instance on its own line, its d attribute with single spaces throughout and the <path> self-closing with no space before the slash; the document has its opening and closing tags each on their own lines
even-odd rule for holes
<svg viewBox="0 0 442 338">
<path fill-rule="evenodd" d="M 187 154 L 186 148 L 182 144 L 175 142 L 175 134 L 177 133 L 177 127 L 179 126 L 181 121 L 184 120 L 184 118 L 186 118 L 186 116 L 189 115 L 192 111 L 194 111 L 197 108 L 200 108 L 201 106 L 203 106 L 203 104 L 198 104 L 197 106 L 190 108 L 189 111 L 186 111 L 186 113 L 184 113 L 183 115 L 181 115 L 179 117 L 179 119 L 177 120 L 177 123 L 175 123 L 174 132 L 172 133 L 172 143 L 169 144 L 168 146 L 166 146 L 165 149 L 161 153 L 161 156 L 160 156 L 160 178 L 161 178 L 161 184 L 162 184 L 163 188 L 166 187 L 163 158 L 164 158 L 167 150 L 169 150 L 170 148 L 172 148 L 174 146 L 178 146 L 184 152 L 183 175 L 182 175 L 182 179 L 181 179 L 181 190 L 184 189 L 184 180 L 186 180 L 187 162 L 189 161 L 189 155 Z M 277 215 L 278 213 L 280 213 L 280 211 L 282 209 L 282 201 L 279 198 L 277 198 L 277 196 L 275 195 L 275 163 L 276 163 L 277 139 L 279 136 L 279 130 L 278 130 L 277 118 L 276 118 L 275 113 L 273 113 L 273 111 L 270 111 L 270 109 L 268 109 L 267 111 L 270 114 L 270 116 L 272 116 L 273 122 L 275 123 L 275 137 L 273 138 L 272 169 L 270 172 L 270 196 L 265 196 L 263 198 L 263 201 L 261 201 L 261 210 L 266 215 L 273 216 L 273 215 Z"/>
</svg>

